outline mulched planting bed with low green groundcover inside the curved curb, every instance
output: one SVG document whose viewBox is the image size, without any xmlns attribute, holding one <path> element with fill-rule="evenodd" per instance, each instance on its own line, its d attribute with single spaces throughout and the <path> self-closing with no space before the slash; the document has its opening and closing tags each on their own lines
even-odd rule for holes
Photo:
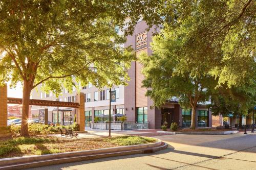
<svg viewBox="0 0 256 170">
<path fill-rule="evenodd" d="M 0 139 L 0 158 L 84 151 L 155 142 L 154 138 L 122 136 L 99 139 L 69 139 L 37 135 Z"/>
</svg>

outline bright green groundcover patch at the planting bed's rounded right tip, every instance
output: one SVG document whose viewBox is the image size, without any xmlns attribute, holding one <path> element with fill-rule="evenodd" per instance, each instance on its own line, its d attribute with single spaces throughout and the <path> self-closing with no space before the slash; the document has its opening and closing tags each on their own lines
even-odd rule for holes
<svg viewBox="0 0 256 170">
<path fill-rule="evenodd" d="M 118 145 L 135 145 L 135 144 L 145 144 L 145 143 L 156 142 L 156 139 L 154 138 L 141 137 L 141 136 L 123 136 L 123 137 L 109 138 L 104 140 L 113 144 L 118 144 Z"/>
</svg>

